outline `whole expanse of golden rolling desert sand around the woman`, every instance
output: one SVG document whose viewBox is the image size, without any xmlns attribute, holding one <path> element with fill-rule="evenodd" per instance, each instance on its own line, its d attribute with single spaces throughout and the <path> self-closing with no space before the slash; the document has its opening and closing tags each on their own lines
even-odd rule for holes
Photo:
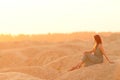
<svg viewBox="0 0 120 80">
<path fill-rule="evenodd" d="M 101 32 L 114 61 L 68 71 L 92 48 L 95 32 L 0 35 L 0 80 L 120 80 L 120 33 Z"/>
</svg>

